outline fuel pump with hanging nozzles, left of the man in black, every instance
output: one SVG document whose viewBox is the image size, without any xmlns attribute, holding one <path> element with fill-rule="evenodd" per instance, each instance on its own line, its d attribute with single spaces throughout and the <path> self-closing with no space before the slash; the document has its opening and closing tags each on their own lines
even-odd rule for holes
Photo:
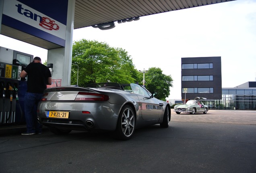
<svg viewBox="0 0 256 173">
<path fill-rule="evenodd" d="M 27 81 L 21 71 L 33 55 L 0 47 L 0 127 L 24 125 L 24 97 Z"/>
</svg>

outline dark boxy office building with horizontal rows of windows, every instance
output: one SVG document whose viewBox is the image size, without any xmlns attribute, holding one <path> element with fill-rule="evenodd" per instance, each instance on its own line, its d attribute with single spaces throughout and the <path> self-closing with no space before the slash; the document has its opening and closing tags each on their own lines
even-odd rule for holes
<svg viewBox="0 0 256 173">
<path fill-rule="evenodd" d="M 184 64 L 190 66 L 190 68 L 182 68 L 182 76 L 196 76 L 197 78 L 198 76 L 211 75 L 213 76 L 213 80 L 199 81 L 195 79 L 194 81 L 182 81 L 182 99 L 185 99 L 183 89 L 188 89 L 186 100 L 194 99 L 195 97 L 221 99 L 222 82 L 220 56 L 182 58 L 182 67 Z M 205 68 L 208 64 L 209 68 Z"/>
</svg>

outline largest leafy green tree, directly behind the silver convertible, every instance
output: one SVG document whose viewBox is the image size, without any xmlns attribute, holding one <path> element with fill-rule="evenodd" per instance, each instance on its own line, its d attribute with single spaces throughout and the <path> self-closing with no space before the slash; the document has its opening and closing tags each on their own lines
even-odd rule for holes
<svg viewBox="0 0 256 173">
<path fill-rule="evenodd" d="M 78 85 L 100 82 L 135 82 L 136 69 L 128 52 L 107 43 L 79 40 L 74 42 L 72 63 L 79 66 Z M 71 84 L 76 84 L 77 66 L 71 68 Z"/>
</svg>

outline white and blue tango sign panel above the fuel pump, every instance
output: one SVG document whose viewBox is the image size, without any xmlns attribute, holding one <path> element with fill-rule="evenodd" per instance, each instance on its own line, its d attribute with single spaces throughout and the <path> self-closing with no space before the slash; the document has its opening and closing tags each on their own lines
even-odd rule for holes
<svg viewBox="0 0 256 173">
<path fill-rule="evenodd" d="M 39 10 L 42 11 L 42 9 Z M 56 37 L 65 40 L 66 25 L 40 11 L 17 0 L 5 0 L 3 8 L 4 20 L 2 20 L 2 23 L 6 26 L 27 32 L 28 34 L 40 38 L 43 37 L 45 40 L 52 39 L 50 40 L 51 42 L 55 42 L 53 40 L 56 40 Z M 27 25 L 33 28 L 27 27 Z M 38 30 L 52 34 L 54 38 Z"/>
</svg>

